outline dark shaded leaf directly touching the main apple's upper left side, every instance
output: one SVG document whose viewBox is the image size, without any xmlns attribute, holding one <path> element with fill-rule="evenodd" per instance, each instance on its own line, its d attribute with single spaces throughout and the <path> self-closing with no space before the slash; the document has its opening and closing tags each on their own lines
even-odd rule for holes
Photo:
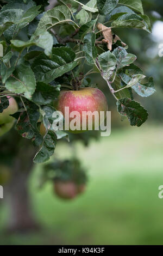
<svg viewBox="0 0 163 256">
<path fill-rule="evenodd" d="M 57 100 L 59 93 L 60 86 L 51 86 L 51 84 L 39 82 L 36 85 L 32 100 L 39 105 L 51 104 L 54 100 Z"/>
</svg>

